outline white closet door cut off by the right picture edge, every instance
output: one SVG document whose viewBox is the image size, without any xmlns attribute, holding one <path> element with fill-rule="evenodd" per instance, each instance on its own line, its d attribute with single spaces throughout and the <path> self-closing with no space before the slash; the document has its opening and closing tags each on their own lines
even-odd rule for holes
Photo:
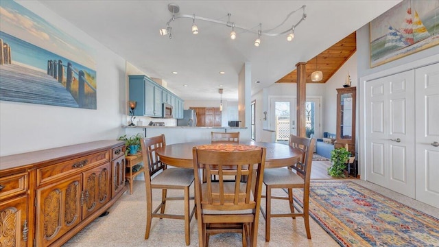
<svg viewBox="0 0 439 247">
<path fill-rule="evenodd" d="M 416 69 L 416 200 L 439 208 L 439 64 Z"/>
</svg>

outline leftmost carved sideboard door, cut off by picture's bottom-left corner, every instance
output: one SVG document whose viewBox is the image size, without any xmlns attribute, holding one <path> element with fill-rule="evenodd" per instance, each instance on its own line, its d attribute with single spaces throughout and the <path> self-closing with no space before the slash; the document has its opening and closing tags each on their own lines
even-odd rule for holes
<svg viewBox="0 0 439 247">
<path fill-rule="evenodd" d="M 28 231 L 27 196 L 0 202 L 0 246 L 27 246 Z"/>
</svg>

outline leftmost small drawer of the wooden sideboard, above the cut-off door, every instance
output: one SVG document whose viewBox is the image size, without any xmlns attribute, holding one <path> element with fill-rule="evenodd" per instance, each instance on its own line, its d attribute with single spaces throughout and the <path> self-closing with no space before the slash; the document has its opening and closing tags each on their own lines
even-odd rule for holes
<svg viewBox="0 0 439 247">
<path fill-rule="evenodd" d="M 0 200 L 11 198 L 27 190 L 27 172 L 0 178 Z"/>
</svg>

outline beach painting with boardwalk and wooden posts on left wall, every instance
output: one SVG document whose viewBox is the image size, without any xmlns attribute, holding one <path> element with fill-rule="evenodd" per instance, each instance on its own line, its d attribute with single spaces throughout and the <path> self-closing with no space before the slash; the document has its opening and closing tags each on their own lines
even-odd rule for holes
<svg viewBox="0 0 439 247">
<path fill-rule="evenodd" d="M 0 100 L 97 108 L 93 49 L 15 1 L 0 23 Z"/>
</svg>

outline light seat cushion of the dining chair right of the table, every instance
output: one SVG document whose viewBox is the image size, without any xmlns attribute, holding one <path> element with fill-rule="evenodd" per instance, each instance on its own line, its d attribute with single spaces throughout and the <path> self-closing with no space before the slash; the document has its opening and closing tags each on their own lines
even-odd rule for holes
<svg viewBox="0 0 439 247">
<path fill-rule="evenodd" d="M 263 172 L 265 185 L 305 185 L 305 180 L 287 168 L 265 169 Z"/>
</svg>

